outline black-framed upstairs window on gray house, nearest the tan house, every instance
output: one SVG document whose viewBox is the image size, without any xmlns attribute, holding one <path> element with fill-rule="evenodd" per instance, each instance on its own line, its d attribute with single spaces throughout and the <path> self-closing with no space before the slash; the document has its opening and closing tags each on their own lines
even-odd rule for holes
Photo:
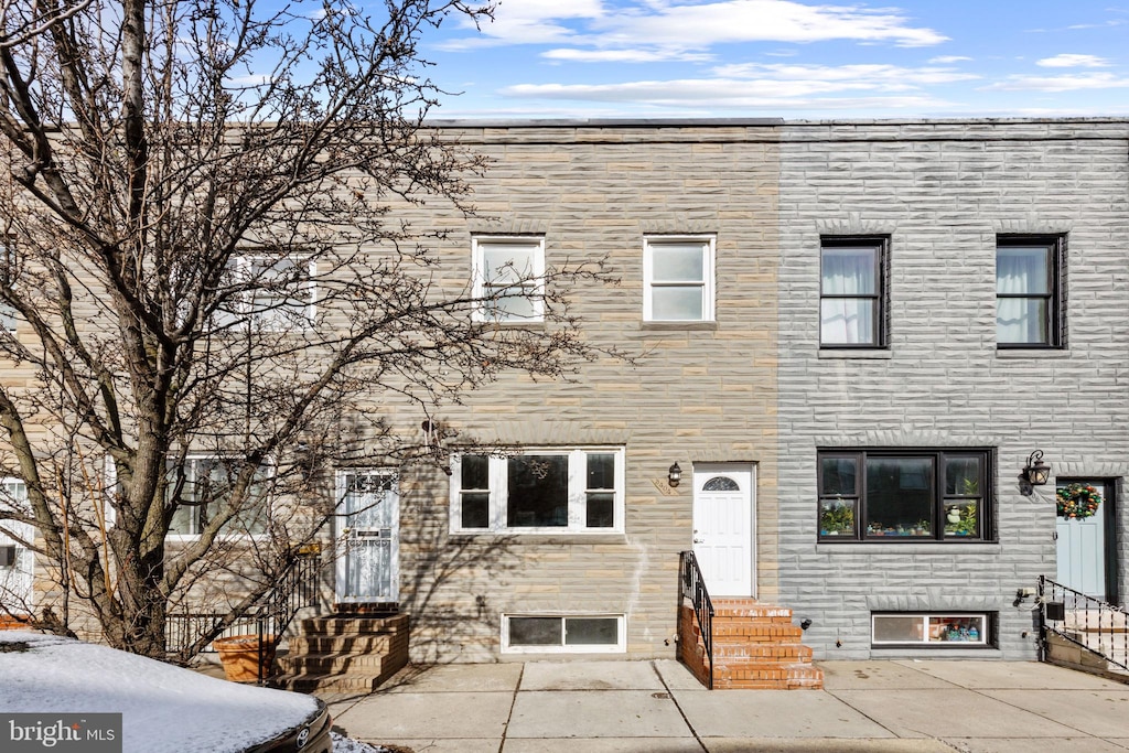
<svg viewBox="0 0 1129 753">
<path fill-rule="evenodd" d="M 886 344 L 886 254 L 881 237 L 823 237 L 820 244 L 820 344 Z"/>
</svg>

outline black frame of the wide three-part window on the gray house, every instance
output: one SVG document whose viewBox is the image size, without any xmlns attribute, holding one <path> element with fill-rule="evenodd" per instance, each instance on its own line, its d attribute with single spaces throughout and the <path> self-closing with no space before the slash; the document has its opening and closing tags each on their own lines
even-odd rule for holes
<svg viewBox="0 0 1129 753">
<path fill-rule="evenodd" d="M 933 499 L 928 533 L 907 532 L 890 534 L 872 531 L 867 517 L 867 459 L 868 458 L 928 458 L 933 466 Z M 948 458 L 975 457 L 980 461 L 980 476 L 977 490 L 973 492 L 949 493 L 946 488 Z M 829 492 L 824 488 L 823 461 L 830 458 L 849 458 L 855 461 L 855 487 L 851 493 Z M 819 543 L 832 544 L 984 544 L 997 540 L 995 524 L 996 508 L 996 452 L 990 447 L 879 447 L 852 449 L 841 447 L 820 447 L 816 450 L 816 505 L 815 526 Z M 961 500 L 978 500 L 973 507 L 978 535 L 946 535 L 946 516 L 951 508 L 957 513 L 966 510 L 969 505 Z M 825 506 L 846 506 L 852 510 L 850 531 L 831 533 L 824 526 L 823 510 Z"/>
</svg>

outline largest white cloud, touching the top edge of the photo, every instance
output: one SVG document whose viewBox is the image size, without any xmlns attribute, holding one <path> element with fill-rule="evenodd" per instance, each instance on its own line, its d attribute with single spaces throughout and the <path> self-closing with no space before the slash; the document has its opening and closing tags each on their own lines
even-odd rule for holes
<svg viewBox="0 0 1129 753">
<path fill-rule="evenodd" d="M 569 25 L 571 23 L 571 26 Z M 481 35 L 448 41 L 445 50 L 568 41 L 597 50 L 640 46 L 676 54 L 716 44 L 808 43 L 849 40 L 898 46 L 939 44 L 947 37 L 913 26 L 895 9 L 811 6 L 794 0 L 514 0 L 502 2 Z"/>
</svg>

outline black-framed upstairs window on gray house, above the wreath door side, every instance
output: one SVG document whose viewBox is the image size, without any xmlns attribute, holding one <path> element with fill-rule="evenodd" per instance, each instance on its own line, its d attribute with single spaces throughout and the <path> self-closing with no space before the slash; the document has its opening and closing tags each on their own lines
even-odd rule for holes
<svg viewBox="0 0 1129 753">
<path fill-rule="evenodd" d="M 996 344 L 1062 347 L 1065 236 L 996 239 Z"/>
</svg>

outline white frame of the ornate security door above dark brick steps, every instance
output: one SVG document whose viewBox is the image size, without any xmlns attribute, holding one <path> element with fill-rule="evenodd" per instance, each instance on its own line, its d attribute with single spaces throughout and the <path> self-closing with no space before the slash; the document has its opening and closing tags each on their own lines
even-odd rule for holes
<svg viewBox="0 0 1129 753">
<path fill-rule="evenodd" d="M 369 529 L 353 529 L 350 527 L 350 520 L 347 514 L 347 502 L 348 502 L 348 490 L 345 489 L 345 480 L 349 476 L 377 476 L 377 478 L 392 478 L 392 485 L 387 490 L 385 499 L 379 502 L 379 505 L 387 505 L 387 516 L 385 522 L 387 526 L 378 526 L 378 529 L 373 529 L 376 535 L 368 536 L 366 533 Z M 351 604 L 351 603 L 366 603 L 366 602 L 396 602 L 400 598 L 400 489 L 399 489 L 399 474 L 395 469 L 342 469 L 338 471 L 336 474 L 336 500 L 338 500 L 338 515 L 334 516 L 334 541 L 335 541 L 335 560 L 336 564 L 334 568 L 334 587 L 333 593 L 339 604 Z M 388 528 L 388 535 L 384 535 L 384 528 Z M 355 548 L 361 545 L 364 542 L 375 543 L 376 540 L 388 539 L 388 548 L 391 550 L 390 568 L 388 568 L 388 593 L 387 595 L 374 595 L 374 594 L 350 594 L 345 593 L 349 590 L 349 569 L 350 569 L 350 551 Z"/>
</svg>

